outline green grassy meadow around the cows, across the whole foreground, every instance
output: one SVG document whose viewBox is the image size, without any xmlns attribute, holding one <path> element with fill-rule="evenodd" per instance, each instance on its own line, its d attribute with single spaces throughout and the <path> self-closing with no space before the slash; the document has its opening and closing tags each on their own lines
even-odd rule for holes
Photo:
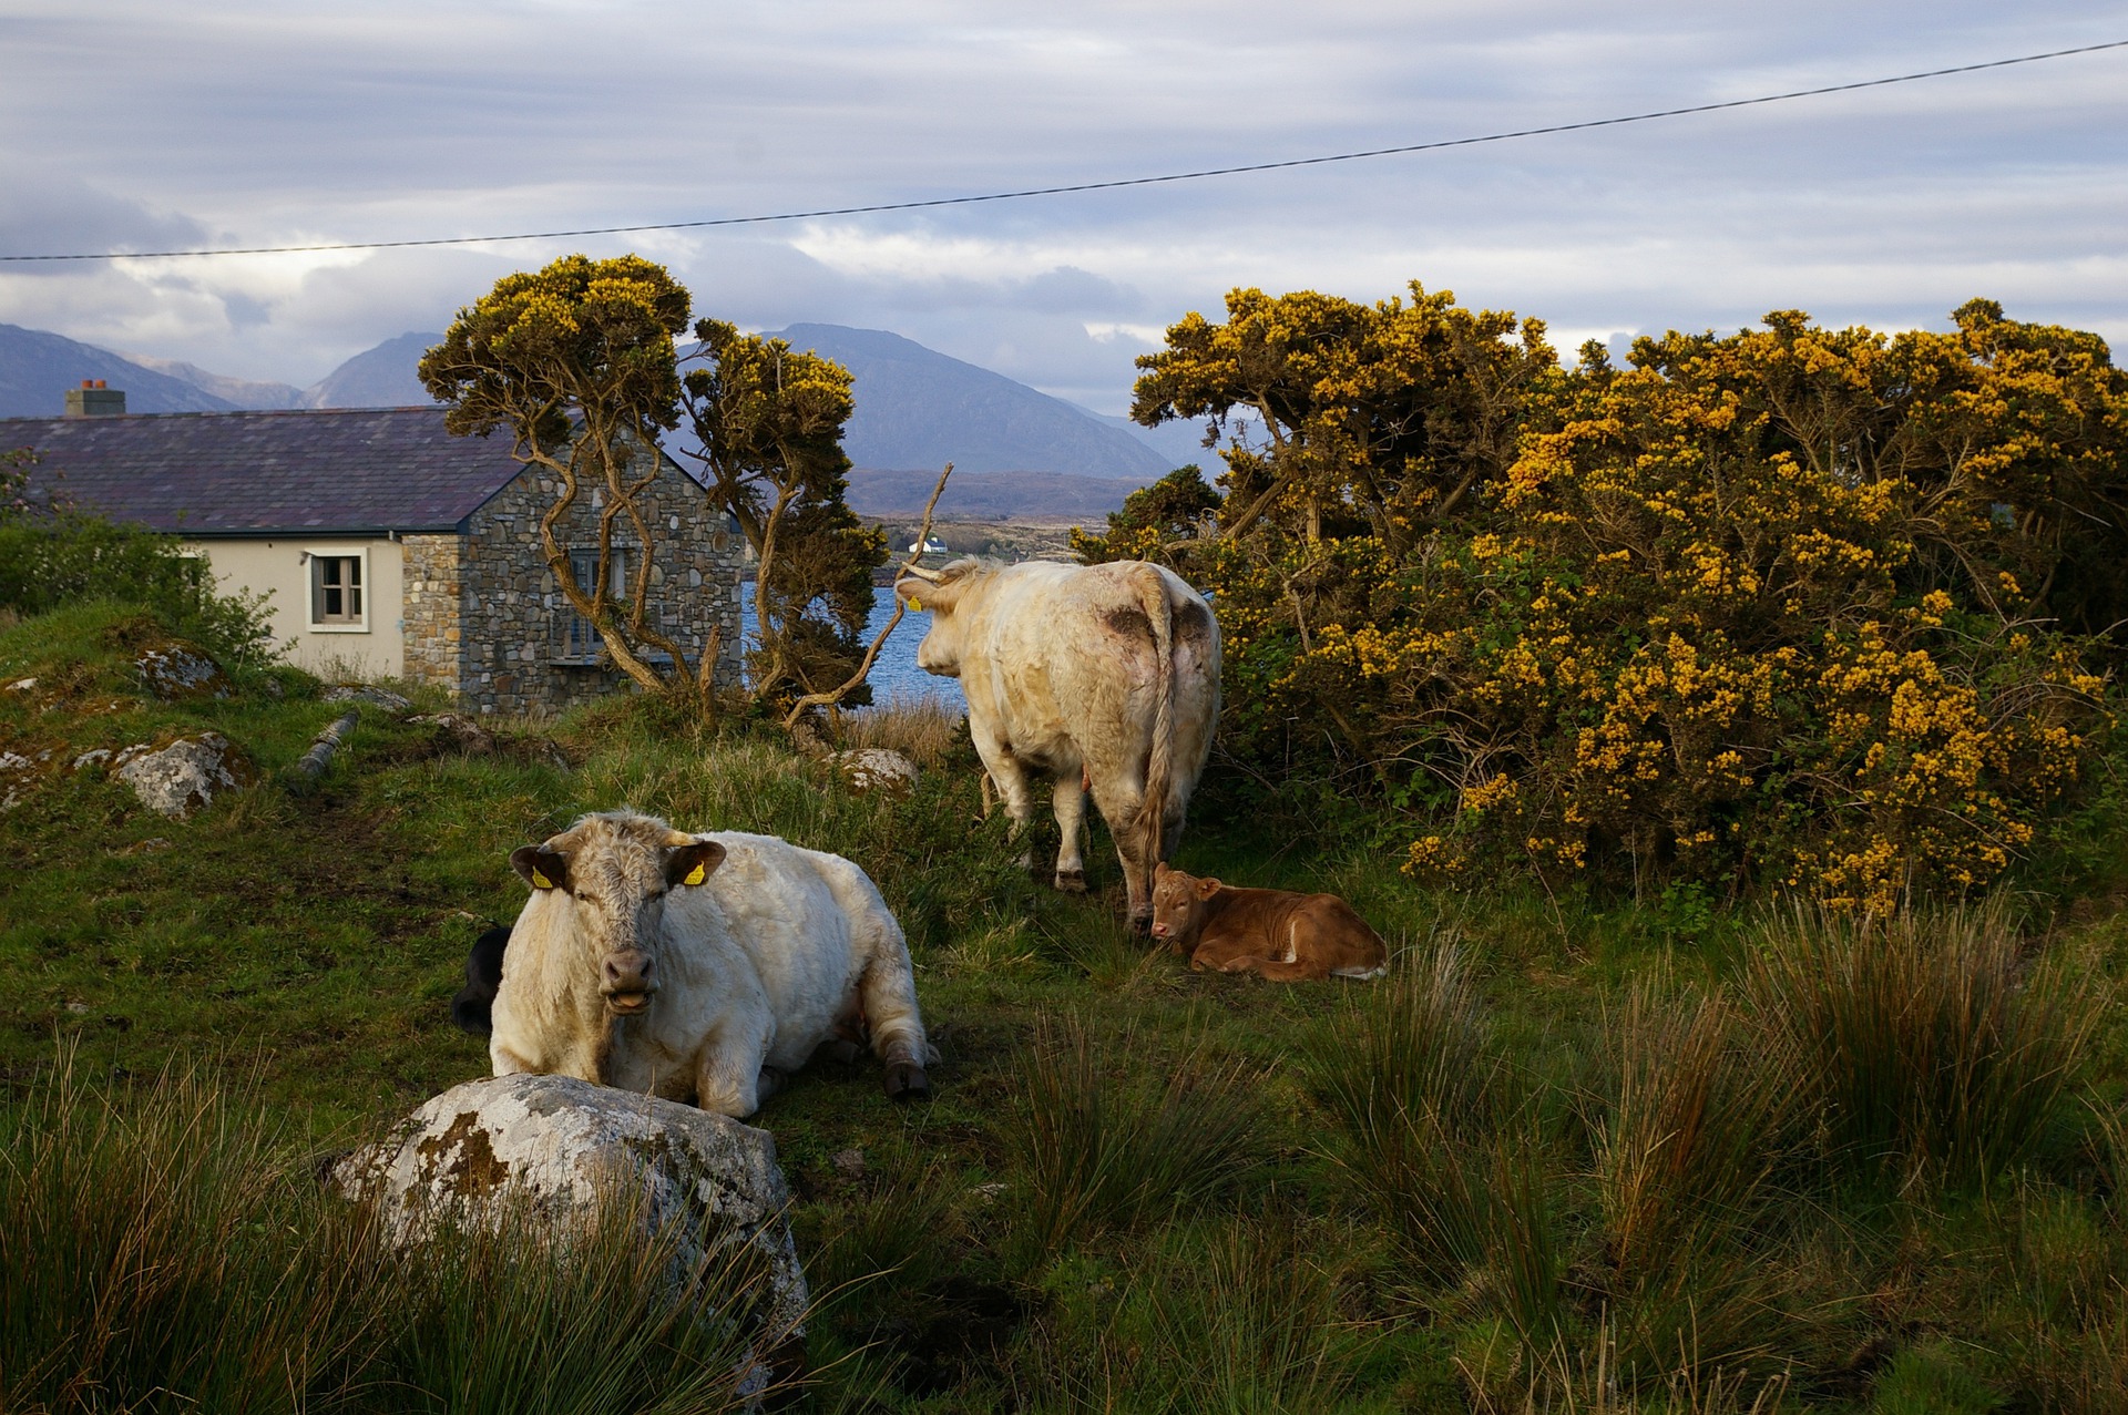
<svg viewBox="0 0 2128 1415">
<path fill-rule="evenodd" d="M 279 666 L 157 702 L 128 657 L 157 630 L 0 630 L 0 681 L 38 679 L 0 749 L 213 728 L 262 777 L 185 823 L 94 770 L 0 813 L 4 1411 L 728 1404 L 728 1334 L 643 1298 L 655 1253 L 413 1264 L 311 1177 L 485 1075 L 447 1004 L 521 904 L 506 855 L 617 804 L 841 851 L 911 940 L 934 1100 L 817 1062 L 755 1117 L 817 1296 L 796 1409 L 2128 1409 L 2102 870 L 1883 919 L 1434 887 L 1215 758 L 1177 864 L 1345 894 L 1394 951 L 1270 985 L 1130 934 L 1098 826 L 1090 896 L 1017 866 L 936 711 L 841 726 L 917 758 L 909 796 L 643 698 L 481 755 L 364 709 L 304 783 L 345 704 Z"/>
</svg>

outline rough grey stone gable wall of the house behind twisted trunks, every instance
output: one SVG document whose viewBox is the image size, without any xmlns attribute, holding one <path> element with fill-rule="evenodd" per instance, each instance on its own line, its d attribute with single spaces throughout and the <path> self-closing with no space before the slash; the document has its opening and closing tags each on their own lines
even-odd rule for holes
<svg viewBox="0 0 2128 1415">
<path fill-rule="evenodd" d="M 468 517 L 458 564 L 458 638 L 451 628 L 423 621 L 423 649 L 443 657 L 455 647 L 455 694 L 468 709 L 481 713 L 530 713 L 564 709 L 589 698 L 628 687 L 632 681 L 613 668 L 558 662 L 562 630 L 570 619 L 568 600 L 547 570 L 538 523 L 558 496 L 555 481 L 541 468 L 526 468 L 511 485 Z M 566 549 L 598 549 L 602 494 L 581 494 L 568 519 L 558 528 Z M 711 628 L 724 630 L 717 655 L 717 681 L 734 683 L 741 662 L 738 577 L 745 564 L 745 538 L 728 530 L 721 515 L 709 511 L 702 489 L 683 472 L 664 466 L 660 479 L 641 496 L 643 515 L 651 526 L 651 589 L 653 621 L 689 660 L 702 651 Z M 413 581 L 413 543 L 409 536 L 409 581 Z M 426 536 L 421 536 L 426 540 Z M 453 540 L 460 540 L 453 536 Z M 615 545 L 626 549 L 630 564 L 641 555 L 634 530 L 626 519 L 615 523 Z M 449 568 L 436 555 L 436 577 L 423 583 L 449 585 Z M 632 570 L 630 570 L 632 575 Z M 589 589 L 589 585 L 585 585 Z M 449 594 L 449 589 L 440 589 Z M 426 602 L 426 598 L 423 598 Z M 417 609 L 409 592 L 406 662 L 409 675 L 417 660 Z"/>
</svg>

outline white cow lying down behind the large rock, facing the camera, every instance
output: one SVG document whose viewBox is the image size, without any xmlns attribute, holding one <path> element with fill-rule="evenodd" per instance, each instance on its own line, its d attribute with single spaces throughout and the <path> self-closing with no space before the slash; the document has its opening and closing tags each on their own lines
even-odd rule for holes
<svg viewBox="0 0 2128 1415">
<path fill-rule="evenodd" d="M 511 864 L 496 1075 L 560 1072 L 745 1117 L 817 1047 L 870 1030 L 890 1096 L 930 1094 L 900 923 L 841 855 L 585 815 Z"/>
</svg>

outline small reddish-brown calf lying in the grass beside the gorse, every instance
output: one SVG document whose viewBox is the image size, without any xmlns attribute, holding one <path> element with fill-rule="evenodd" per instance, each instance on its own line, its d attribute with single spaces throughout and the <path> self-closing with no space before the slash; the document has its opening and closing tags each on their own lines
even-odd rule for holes
<svg viewBox="0 0 2128 1415">
<path fill-rule="evenodd" d="M 1192 968 L 1256 970 L 1275 983 L 1390 970 L 1381 934 L 1334 894 L 1230 889 L 1166 864 L 1153 872 L 1153 938 Z"/>
</svg>

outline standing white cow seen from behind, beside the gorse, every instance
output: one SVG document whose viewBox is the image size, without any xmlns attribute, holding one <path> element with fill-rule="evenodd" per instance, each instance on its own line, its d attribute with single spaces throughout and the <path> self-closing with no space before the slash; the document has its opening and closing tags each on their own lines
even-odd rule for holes
<svg viewBox="0 0 2128 1415">
<path fill-rule="evenodd" d="M 917 666 L 958 677 L 968 732 L 1004 809 L 1034 815 L 1055 781 L 1058 889 L 1085 889 L 1079 826 L 1092 787 L 1149 928 L 1153 866 L 1181 836 L 1219 726 L 1219 623 L 1196 589 L 1143 560 L 1100 566 L 955 560 L 894 589 L 930 611 Z"/>
</svg>

